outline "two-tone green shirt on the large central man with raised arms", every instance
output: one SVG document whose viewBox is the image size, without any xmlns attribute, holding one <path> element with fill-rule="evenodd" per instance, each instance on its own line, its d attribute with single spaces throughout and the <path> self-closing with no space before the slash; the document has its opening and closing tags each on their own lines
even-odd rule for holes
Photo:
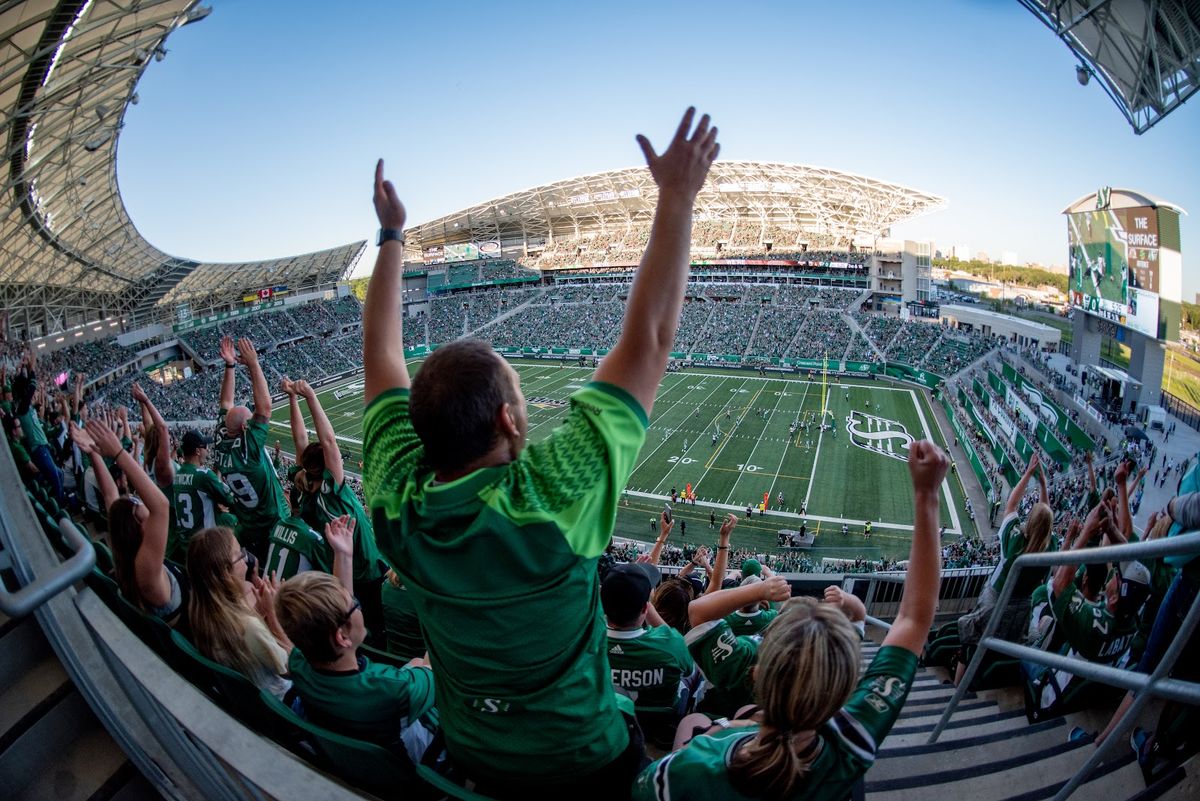
<svg viewBox="0 0 1200 801">
<path fill-rule="evenodd" d="M 408 391 L 367 406 L 367 505 L 413 595 L 455 761 L 476 779 L 556 782 L 626 747 L 605 654 L 596 560 L 646 439 L 628 392 L 590 383 L 511 463 L 438 483 Z"/>
</svg>

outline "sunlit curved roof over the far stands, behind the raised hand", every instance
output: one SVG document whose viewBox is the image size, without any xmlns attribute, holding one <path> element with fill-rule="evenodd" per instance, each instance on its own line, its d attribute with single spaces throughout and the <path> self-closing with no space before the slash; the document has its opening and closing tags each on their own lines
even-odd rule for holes
<svg viewBox="0 0 1200 801">
<path fill-rule="evenodd" d="M 420 247 L 550 241 L 648 224 L 658 187 L 644 167 L 582 175 L 476 204 L 406 231 Z M 946 206 L 936 194 L 804 164 L 718 161 L 696 219 L 750 218 L 833 236 L 877 235 Z"/>
</svg>

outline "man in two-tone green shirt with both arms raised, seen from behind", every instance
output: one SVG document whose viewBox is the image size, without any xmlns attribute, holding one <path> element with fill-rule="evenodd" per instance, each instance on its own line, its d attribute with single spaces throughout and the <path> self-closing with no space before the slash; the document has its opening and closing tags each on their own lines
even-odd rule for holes
<svg viewBox="0 0 1200 801">
<path fill-rule="evenodd" d="M 661 156 L 638 137 L 659 198 L 620 339 L 563 426 L 528 448 L 517 374 L 486 343 L 438 348 L 409 393 L 404 206 L 376 168 L 364 489 L 425 630 L 446 747 L 487 795 L 624 797 L 642 761 L 611 687 L 596 559 L 666 371 L 691 209 L 718 152 L 694 114 Z"/>
</svg>

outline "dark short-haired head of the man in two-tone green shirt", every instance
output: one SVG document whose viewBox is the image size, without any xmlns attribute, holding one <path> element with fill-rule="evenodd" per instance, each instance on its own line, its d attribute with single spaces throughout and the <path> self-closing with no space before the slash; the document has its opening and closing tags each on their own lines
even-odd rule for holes
<svg viewBox="0 0 1200 801">
<path fill-rule="evenodd" d="M 503 360 L 482 339 L 434 350 L 413 379 L 409 414 L 434 470 L 462 468 L 496 445 L 496 415 L 516 403 Z"/>
</svg>

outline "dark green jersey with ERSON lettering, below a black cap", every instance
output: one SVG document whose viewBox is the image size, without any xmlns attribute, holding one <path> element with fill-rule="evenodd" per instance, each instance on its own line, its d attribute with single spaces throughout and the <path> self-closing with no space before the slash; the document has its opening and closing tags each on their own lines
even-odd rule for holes
<svg viewBox="0 0 1200 801">
<path fill-rule="evenodd" d="M 638 712 L 680 711 L 684 679 L 696 670 L 683 634 L 670 626 L 610 628 L 608 667 L 613 686 L 629 693 Z"/>
</svg>

